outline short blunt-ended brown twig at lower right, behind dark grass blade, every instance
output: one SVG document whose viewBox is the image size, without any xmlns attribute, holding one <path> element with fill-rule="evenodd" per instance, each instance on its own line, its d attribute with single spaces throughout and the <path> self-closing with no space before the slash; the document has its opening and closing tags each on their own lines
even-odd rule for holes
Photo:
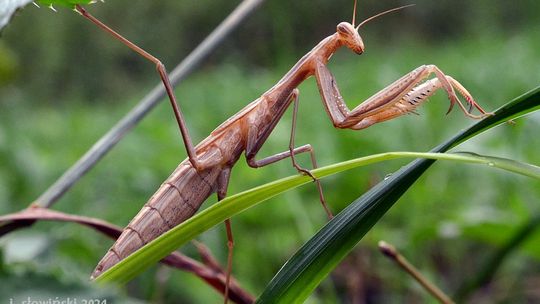
<svg viewBox="0 0 540 304">
<path fill-rule="evenodd" d="M 381 252 L 392 261 L 396 262 L 403 270 L 410 274 L 425 290 L 427 290 L 434 298 L 441 303 L 450 304 L 454 303 L 448 295 L 446 295 L 441 289 L 433 285 L 426 277 L 418 271 L 414 265 L 412 265 L 403 255 L 401 255 L 397 249 L 391 244 L 385 241 L 379 241 L 379 249 Z"/>
</svg>

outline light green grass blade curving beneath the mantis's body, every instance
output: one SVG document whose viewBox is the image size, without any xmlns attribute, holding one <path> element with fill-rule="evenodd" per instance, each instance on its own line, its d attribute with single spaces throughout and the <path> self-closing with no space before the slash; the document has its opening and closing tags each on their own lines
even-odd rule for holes
<svg viewBox="0 0 540 304">
<path fill-rule="evenodd" d="M 318 178 L 323 178 L 332 174 L 354 169 L 360 166 L 366 166 L 376 162 L 398 158 L 419 157 L 482 164 L 540 179 L 540 167 L 523 164 L 509 159 L 483 156 L 469 152 L 452 154 L 388 152 L 321 167 L 313 170 L 312 173 Z M 196 216 L 190 218 L 181 225 L 171 229 L 154 241 L 150 242 L 108 271 L 104 272 L 96 279 L 96 281 L 126 283 L 137 274 L 144 271 L 147 267 L 169 254 L 171 251 L 192 240 L 202 232 L 222 223 L 225 219 L 230 218 L 231 216 L 257 205 L 277 194 L 309 182 L 311 182 L 310 177 L 295 175 L 230 196 L 222 200 L 219 204 L 214 204 L 206 210 L 203 210 Z"/>
</svg>

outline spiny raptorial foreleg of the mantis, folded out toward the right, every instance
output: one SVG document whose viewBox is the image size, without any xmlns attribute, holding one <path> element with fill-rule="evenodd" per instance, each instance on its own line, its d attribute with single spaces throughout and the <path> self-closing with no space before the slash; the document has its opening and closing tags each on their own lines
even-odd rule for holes
<svg viewBox="0 0 540 304">
<path fill-rule="evenodd" d="M 420 84 L 430 74 L 435 74 L 436 78 Z M 487 114 L 459 82 L 444 75 L 435 65 L 423 65 L 414 69 L 353 110 L 347 108 L 334 76 L 326 65 L 317 64 L 315 76 L 326 112 L 334 126 L 340 129 L 364 129 L 375 123 L 413 112 L 440 88 L 447 92 L 450 99 L 448 112 L 457 103 L 465 115 L 471 118 L 478 119 Z M 467 111 L 457 97 L 454 88 L 467 100 L 470 106 L 469 110 L 474 107 L 483 115 L 473 115 Z"/>
</svg>

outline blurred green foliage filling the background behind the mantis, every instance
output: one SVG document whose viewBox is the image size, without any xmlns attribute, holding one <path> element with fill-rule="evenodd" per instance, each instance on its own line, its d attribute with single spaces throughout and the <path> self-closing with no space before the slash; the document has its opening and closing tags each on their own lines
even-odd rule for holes
<svg viewBox="0 0 540 304">
<path fill-rule="evenodd" d="M 156 55 L 172 69 L 237 1 L 109 1 L 90 12 Z M 359 18 L 404 1 L 361 1 Z M 486 109 L 540 83 L 540 2 L 415 1 L 417 6 L 373 21 L 362 29 L 366 53 L 340 51 L 329 65 L 350 107 L 413 68 L 438 65 L 464 84 Z M 177 89 L 190 131 L 200 141 L 221 121 L 272 86 L 335 25 L 350 20 L 352 1 L 267 1 Z M 28 6 L 0 38 L 0 214 L 26 207 L 158 82 L 154 67 L 70 10 L 54 13 Z M 425 151 L 470 121 L 447 117 L 439 93 L 406 117 L 361 132 L 332 128 L 313 80 L 300 87 L 297 144 L 311 143 L 320 164 L 372 153 Z M 538 114 L 484 134 L 459 150 L 540 164 Z M 277 126 L 261 155 L 286 149 L 290 114 Z M 185 157 L 170 109 L 163 103 L 55 208 L 125 225 Z M 307 159 L 301 159 L 307 165 Z M 334 210 L 405 162 L 375 165 L 323 182 Z M 253 170 L 240 160 L 229 193 L 294 173 L 288 162 Z M 314 303 L 419 301 L 427 296 L 376 251 L 384 238 L 444 290 L 478 270 L 485 254 L 538 214 L 540 187 L 524 177 L 474 166 L 434 166 L 366 236 L 358 252 L 338 268 Z M 212 197 L 207 204 L 215 202 Z M 204 206 L 203 206 L 204 208 Z M 325 221 L 314 187 L 304 187 L 233 219 L 234 274 L 258 293 L 281 263 Z M 224 261 L 222 227 L 202 236 Z M 9 251 L 17 240 L 40 239 Z M 34 242 L 34 241 L 32 241 Z M 34 244 L 34 243 L 32 243 Z M 84 285 L 110 241 L 71 224 L 39 223 L 0 239 L 0 281 L 24 295 L 47 278 L 54 286 Z M 490 291 L 475 299 L 525 301 L 539 279 L 540 235 L 532 234 L 503 264 Z M 193 248 L 186 248 L 193 254 Z M 15 259 L 15 260 L 13 260 Z M 351 271 L 354 269 L 355 271 Z M 165 278 L 165 279 L 164 279 Z M 43 280 L 42 280 L 43 281 Z M 360 281 L 353 287 L 347 282 Z M 163 283 L 165 282 L 165 283 Z M 37 288 L 37 287 L 36 287 Z M 191 275 L 156 268 L 127 287 L 142 301 L 201 303 L 219 295 Z M 84 291 L 90 292 L 92 291 Z M 115 294 L 107 291 L 107 294 Z M 82 293 L 82 291 L 81 291 Z M 538 298 L 533 298 L 538 300 Z"/>
</svg>

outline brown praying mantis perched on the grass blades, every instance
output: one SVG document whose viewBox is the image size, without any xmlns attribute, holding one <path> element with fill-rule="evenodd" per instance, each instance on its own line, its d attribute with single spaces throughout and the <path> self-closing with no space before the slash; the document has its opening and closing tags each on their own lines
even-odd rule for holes
<svg viewBox="0 0 540 304">
<path fill-rule="evenodd" d="M 77 5 L 76 10 L 82 16 L 156 65 L 172 105 L 188 155 L 187 159 L 178 165 L 176 170 L 127 225 L 122 235 L 99 262 L 92 277 L 99 276 L 138 248 L 190 218 L 212 193 L 217 193 L 218 200 L 223 199 L 227 194 L 231 169 L 242 153 L 245 153 L 248 165 L 253 168 L 290 158 L 296 170 L 313 178 L 323 207 L 328 216 L 332 217 L 332 213 L 324 201 L 319 180 L 309 170 L 300 167 L 295 160 L 296 154 L 310 153 L 312 165 L 317 167 L 312 146 L 307 144 L 295 147 L 294 144 L 299 102 L 299 90 L 297 87 L 311 76 L 315 76 L 323 105 L 332 124 L 340 129 L 360 130 L 378 122 L 411 113 L 425 103 L 438 89 L 444 89 L 448 94 L 450 100 L 448 112 L 457 104 L 468 117 L 479 119 L 489 115 L 475 102 L 471 94 L 459 82 L 445 75 L 435 65 L 422 65 L 412 70 L 354 109 L 349 110 L 341 96 L 334 76 L 326 66 L 330 57 L 341 47 L 346 47 L 358 55 L 362 54 L 364 52 L 364 42 L 359 35 L 359 29 L 367 22 L 383 14 L 405 7 L 408 6 L 384 11 L 355 25 L 355 1 L 351 23 L 339 23 L 334 34 L 323 39 L 304 55 L 278 83 L 263 93 L 261 97 L 227 119 L 212 131 L 205 140 L 195 146 L 176 102 L 164 65 L 157 58 L 122 37 L 89 14 L 83 7 Z M 435 77 L 428 79 L 431 75 L 435 75 Z M 469 105 L 468 109 L 458 98 L 456 91 L 465 98 Z M 293 104 L 293 116 L 289 149 L 269 157 L 257 159 L 256 156 L 259 150 L 291 104 Z M 474 108 L 480 112 L 480 115 L 471 113 Z M 226 274 L 226 285 L 228 286 L 231 273 L 233 236 L 230 220 L 227 220 L 225 224 L 229 247 Z M 225 299 L 227 299 L 227 290 L 225 290 Z"/>
</svg>

